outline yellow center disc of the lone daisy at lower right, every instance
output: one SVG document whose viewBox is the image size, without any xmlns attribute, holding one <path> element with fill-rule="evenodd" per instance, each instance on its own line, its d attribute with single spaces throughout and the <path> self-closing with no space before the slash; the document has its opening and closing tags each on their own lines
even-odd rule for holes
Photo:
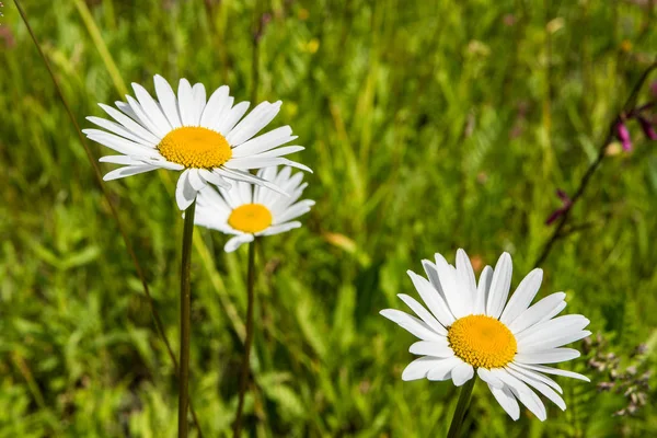
<svg viewBox="0 0 657 438">
<path fill-rule="evenodd" d="M 486 315 L 463 316 L 449 327 L 447 341 L 454 354 L 475 368 L 500 368 L 518 350 L 510 330 Z"/>
</svg>

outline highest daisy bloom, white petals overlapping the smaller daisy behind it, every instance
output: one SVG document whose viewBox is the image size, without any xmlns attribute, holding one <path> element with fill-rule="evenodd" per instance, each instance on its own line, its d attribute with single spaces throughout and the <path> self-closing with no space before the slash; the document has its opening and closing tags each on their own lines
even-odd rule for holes
<svg viewBox="0 0 657 438">
<path fill-rule="evenodd" d="M 311 172 L 283 158 L 304 149 L 280 147 L 297 138 L 289 126 L 254 137 L 278 114 L 280 101 L 263 102 L 242 118 L 249 102 L 233 105 L 234 97 L 227 85 L 218 88 L 206 101 L 201 83 L 192 87 L 181 79 L 176 96 L 161 76 L 155 74 L 154 82 L 157 101 L 143 87 L 132 83 L 137 99 L 126 95 L 127 103 L 116 102 L 118 110 L 100 104 L 115 122 L 88 117 L 106 130 L 83 129 L 87 137 L 120 153 L 101 158 L 102 162 L 123 165 L 107 173 L 105 181 L 161 168 L 183 171 L 175 198 L 184 210 L 208 183 L 230 188 L 229 180 L 244 181 L 280 191 L 252 175 L 250 169 L 288 164 Z"/>
</svg>

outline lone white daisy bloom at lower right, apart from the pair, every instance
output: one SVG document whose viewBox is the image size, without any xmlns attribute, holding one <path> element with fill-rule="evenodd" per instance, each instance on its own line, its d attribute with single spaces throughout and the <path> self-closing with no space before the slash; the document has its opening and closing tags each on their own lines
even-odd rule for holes
<svg viewBox="0 0 657 438">
<path fill-rule="evenodd" d="M 457 387 L 476 374 L 511 418 L 520 417 L 518 401 L 539 419 L 546 418 L 545 406 L 534 391 L 566 408 L 561 387 L 545 374 L 589 381 L 576 372 L 546 367 L 579 357 L 579 351 L 562 346 L 581 339 L 590 332 L 589 320 L 579 314 L 555 318 L 564 308 L 563 292 L 548 296 L 530 307 L 543 278 L 534 269 L 508 300 L 511 256 L 502 254 L 495 270 L 486 266 L 479 285 L 470 258 L 457 252 L 457 267 L 440 254 L 436 263 L 423 261 L 428 280 L 411 270 L 408 275 L 429 309 L 407 295 L 399 297 L 419 319 L 394 309 L 381 314 L 417 336 L 410 351 L 422 356 L 403 371 L 403 380 L 451 379 Z"/>
</svg>

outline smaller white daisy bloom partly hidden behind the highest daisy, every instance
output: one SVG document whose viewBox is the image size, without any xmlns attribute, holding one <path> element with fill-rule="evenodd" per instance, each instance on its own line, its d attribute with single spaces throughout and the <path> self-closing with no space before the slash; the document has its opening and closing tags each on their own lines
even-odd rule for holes
<svg viewBox="0 0 657 438">
<path fill-rule="evenodd" d="M 314 205 L 314 200 L 298 200 L 308 183 L 301 183 L 302 173 L 292 175 L 289 166 L 280 172 L 277 168 L 261 169 L 257 176 L 280 187 L 289 196 L 243 182 L 229 189 L 219 187 L 220 194 L 212 187 L 206 187 L 198 194 L 194 222 L 234 234 L 226 243 L 226 252 L 235 251 L 256 235 L 279 234 L 301 227 L 301 222 L 290 220 L 307 214 Z"/>
</svg>

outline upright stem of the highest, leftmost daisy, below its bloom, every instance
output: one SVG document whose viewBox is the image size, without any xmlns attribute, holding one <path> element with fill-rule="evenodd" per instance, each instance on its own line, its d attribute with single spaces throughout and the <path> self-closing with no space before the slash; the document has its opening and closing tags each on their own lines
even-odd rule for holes
<svg viewBox="0 0 657 438">
<path fill-rule="evenodd" d="M 189 268 L 192 264 L 192 235 L 196 199 L 185 210 L 183 230 L 183 263 L 181 269 L 181 360 L 178 374 L 178 438 L 187 438 L 187 405 L 189 403 Z"/>
</svg>

